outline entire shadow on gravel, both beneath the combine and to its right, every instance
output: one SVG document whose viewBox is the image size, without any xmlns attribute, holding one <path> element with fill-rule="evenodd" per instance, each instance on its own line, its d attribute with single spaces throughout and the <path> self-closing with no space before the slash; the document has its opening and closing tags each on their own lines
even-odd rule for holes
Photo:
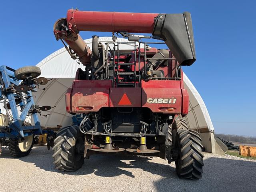
<svg viewBox="0 0 256 192">
<path fill-rule="evenodd" d="M 3 150 L 1 158 L 12 158 L 8 150 Z M 24 162 L 35 164 L 37 167 L 58 172 L 52 164 L 52 150 L 46 146 L 36 146 L 30 155 L 19 158 Z M 123 162 L 128 160 L 127 162 Z M 94 173 L 101 177 L 115 177 L 122 174 L 135 178 L 136 171 L 142 169 L 162 177 L 160 180 L 152 179 L 159 192 L 206 192 L 206 191 L 256 191 L 256 162 L 247 160 L 232 160 L 226 158 L 207 157 L 204 159 L 204 174 L 201 180 L 181 180 L 175 168 L 169 164 L 160 164 L 149 161 L 150 158 L 140 156 L 121 155 L 93 155 L 84 161 L 82 168 L 76 172 L 59 172 L 67 175 L 88 175 Z M 128 169 L 131 168 L 131 169 Z M 113 180 L 112 182 L 115 182 Z M 150 191 L 150 190 L 148 190 Z"/>
</svg>

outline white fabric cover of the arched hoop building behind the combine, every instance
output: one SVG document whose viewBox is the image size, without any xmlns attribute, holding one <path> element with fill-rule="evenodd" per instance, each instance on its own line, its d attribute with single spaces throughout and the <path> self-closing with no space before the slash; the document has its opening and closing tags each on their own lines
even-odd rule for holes
<svg viewBox="0 0 256 192">
<path fill-rule="evenodd" d="M 86 44 L 92 48 L 92 39 L 84 40 Z M 127 39 L 118 38 L 119 42 L 128 42 Z M 101 37 L 99 42 L 105 44 L 112 42 L 111 37 Z M 112 47 L 111 47 L 112 48 Z M 130 44 L 121 44 L 120 49 L 133 49 Z M 37 64 L 45 78 L 51 79 L 45 86 L 40 86 L 36 92 L 36 104 L 39 106 L 49 105 L 56 106 L 49 111 L 42 112 L 40 117 L 41 125 L 44 127 L 56 127 L 57 125 L 68 126 L 72 122 L 72 115 L 66 112 L 65 93 L 67 88 L 71 87 L 74 80 L 76 70 L 84 68 L 82 64 L 78 64 L 76 60 L 70 58 L 65 48 L 50 54 Z M 193 86 L 192 82 L 184 74 L 184 86 L 188 90 L 190 96 L 189 113 L 185 117 L 191 129 L 207 129 L 214 131 L 207 108 L 200 94 Z M 49 114 L 47 117 L 44 115 Z"/>
</svg>

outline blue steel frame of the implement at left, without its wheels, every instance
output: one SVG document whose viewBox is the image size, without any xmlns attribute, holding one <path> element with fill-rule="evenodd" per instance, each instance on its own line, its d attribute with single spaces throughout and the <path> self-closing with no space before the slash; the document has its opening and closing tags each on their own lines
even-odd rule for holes
<svg viewBox="0 0 256 192">
<path fill-rule="evenodd" d="M 4 65 L 0 66 L 0 78 L 2 78 L 2 81 L 4 83 L 4 85 L 2 86 L 4 88 L 8 88 L 11 84 L 14 84 L 15 86 L 18 86 L 20 84 L 19 80 L 17 80 L 14 76 L 14 71 L 15 70 L 10 67 Z M 32 91 L 36 92 L 35 84 L 32 84 L 32 87 L 34 87 Z M 35 104 L 32 91 L 30 90 L 28 92 L 24 92 L 24 95 L 26 97 L 26 104 L 23 100 L 22 102 L 20 102 L 20 107 L 23 108 L 20 115 L 18 113 L 18 107 L 16 106 L 15 102 L 16 95 L 12 92 L 0 92 L 0 100 L 3 99 L 3 94 L 8 98 L 13 116 L 13 122 L 11 122 L 11 124 L 8 127 L 9 131 L 0 131 L 0 138 L 20 138 L 31 134 L 39 135 L 43 133 L 37 113 L 32 113 L 32 118 L 35 123 L 34 126 L 22 126 L 23 122 L 26 119 L 26 116 L 28 115 L 30 108 Z"/>
</svg>

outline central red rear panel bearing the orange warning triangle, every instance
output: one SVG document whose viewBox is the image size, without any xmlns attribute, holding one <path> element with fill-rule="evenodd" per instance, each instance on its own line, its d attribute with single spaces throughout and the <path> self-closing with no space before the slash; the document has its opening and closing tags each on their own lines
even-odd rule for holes
<svg viewBox="0 0 256 192">
<path fill-rule="evenodd" d="M 109 106 L 141 107 L 140 97 L 141 88 L 110 88 Z"/>
</svg>

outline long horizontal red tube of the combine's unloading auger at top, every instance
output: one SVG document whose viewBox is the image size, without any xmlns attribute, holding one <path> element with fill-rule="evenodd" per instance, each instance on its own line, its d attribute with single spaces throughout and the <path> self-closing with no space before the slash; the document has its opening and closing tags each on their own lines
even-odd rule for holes
<svg viewBox="0 0 256 192">
<path fill-rule="evenodd" d="M 123 13 L 68 10 L 67 22 L 76 33 L 79 31 L 126 31 L 152 33 L 155 13 Z"/>
</svg>

